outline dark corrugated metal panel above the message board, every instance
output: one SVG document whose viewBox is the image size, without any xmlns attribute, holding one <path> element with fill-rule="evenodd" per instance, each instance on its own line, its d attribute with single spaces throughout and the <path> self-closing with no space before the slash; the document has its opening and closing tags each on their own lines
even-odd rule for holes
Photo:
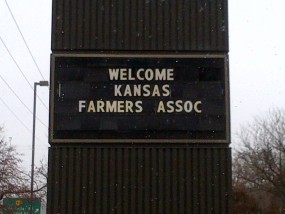
<svg viewBox="0 0 285 214">
<path fill-rule="evenodd" d="M 53 0 L 52 50 L 228 51 L 227 0 Z"/>
</svg>

